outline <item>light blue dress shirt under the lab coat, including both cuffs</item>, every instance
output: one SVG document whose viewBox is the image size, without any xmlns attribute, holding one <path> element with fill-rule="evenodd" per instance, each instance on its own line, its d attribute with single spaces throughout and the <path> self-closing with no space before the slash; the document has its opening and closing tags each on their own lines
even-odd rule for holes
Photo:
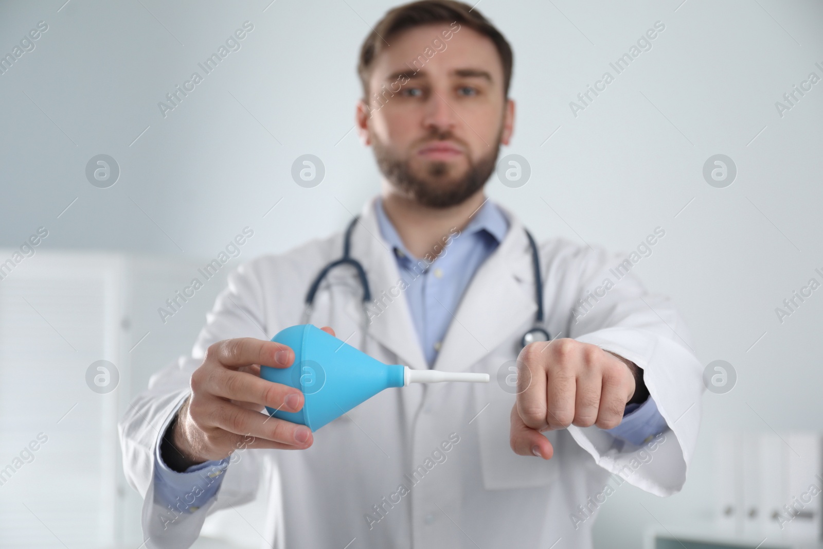
<svg viewBox="0 0 823 549">
<path fill-rule="evenodd" d="M 398 231 L 384 212 L 382 199 L 375 202 L 375 210 L 380 233 L 392 247 L 400 276 L 407 284 L 404 293 L 412 321 L 425 360 L 431 367 L 464 291 L 477 268 L 503 240 L 509 230 L 509 221 L 499 207 L 487 201 L 459 234 L 454 231 L 446 240 L 443 251 L 428 262 L 425 258 L 415 258 L 403 245 Z M 649 397 L 642 404 L 626 406 L 621 424 L 608 432 L 639 446 L 649 436 L 663 430 L 666 430 L 666 421 Z M 223 478 L 221 472 L 228 467 L 229 458 L 194 465 L 186 472 L 174 472 L 162 462 L 158 448 L 155 461 L 158 503 L 174 509 L 188 505 L 193 511 L 216 494 Z M 211 474 L 204 475 L 206 471 Z"/>
</svg>

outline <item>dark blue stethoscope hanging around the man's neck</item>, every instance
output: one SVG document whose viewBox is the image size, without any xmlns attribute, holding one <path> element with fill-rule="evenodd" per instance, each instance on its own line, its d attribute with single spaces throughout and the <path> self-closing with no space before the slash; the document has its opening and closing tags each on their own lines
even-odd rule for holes
<svg viewBox="0 0 823 549">
<path fill-rule="evenodd" d="M 306 293 L 305 299 L 305 311 L 303 315 L 303 323 L 309 322 L 309 317 L 311 315 L 311 311 L 314 308 L 314 295 L 317 294 L 317 291 L 320 287 L 320 284 L 323 282 L 323 279 L 328 275 L 328 272 L 331 271 L 333 268 L 337 267 L 338 265 L 351 265 L 351 267 L 355 268 L 357 272 L 357 277 L 360 278 L 360 286 L 363 288 L 363 311 L 365 315 L 365 329 L 368 329 L 368 325 L 370 324 L 369 315 L 366 314 L 366 304 L 371 301 L 371 291 L 369 288 L 369 278 L 365 274 L 365 269 L 363 265 L 360 264 L 355 258 L 351 257 L 351 233 L 354 231 L 355 225 L 357 221 L 360 221 L 360 216 L 355 216 L 349 226 L 346 227 L 346 236 L 343 239 L 343 256 L 331 263 L 328 263 L 325 267 L 323 267 L 320 272 L 318 273 L 317 277 L 314 278 L 314 281 L 309 286 L 309 291 Z M 523 229 L 525 230 L 525 229 Z M 533 342 L 547 342 L 551 340 L 551 336 L 546 331 L 546 328 L 543 328 L 543 282 L 540 276 L 540 255 L 537 253 L 537 244 L 534 242 L 534 238 L 532 238 L 531 233 L 526 231 L 526 236 L 528 237 L 528 245 L 532 249 L 532 267 L 534 268 L 534 293 L 535 293 L 535 301 L 537 302 L 537 313 L 534 315 L 534 325 L 532 328 L 528 330 L 528 332 L 523 334 L 523 337 L 520 338 L 520 347 L 526 347 L 529 343 Z"/>
</svg>

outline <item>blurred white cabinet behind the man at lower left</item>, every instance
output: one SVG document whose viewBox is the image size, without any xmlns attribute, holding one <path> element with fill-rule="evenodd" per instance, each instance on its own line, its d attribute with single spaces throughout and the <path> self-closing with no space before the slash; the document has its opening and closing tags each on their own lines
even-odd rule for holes
<svg viewBox="0 0 823 549">
<path fill-rule="evenodd" d="M 152 373 L 191 351 L 236 267 L 227 263 L 163 323 L 157 309 L 205 263 L 39 250 L 0 279 L 2 549 L 142 541 L 142 499 L 123 477 L 117 421 Z M 119 372 L 109 393 L 86 384 L 100 360 Z M 250 529 L 245 537 L 260 542 Z"/>
</svg>

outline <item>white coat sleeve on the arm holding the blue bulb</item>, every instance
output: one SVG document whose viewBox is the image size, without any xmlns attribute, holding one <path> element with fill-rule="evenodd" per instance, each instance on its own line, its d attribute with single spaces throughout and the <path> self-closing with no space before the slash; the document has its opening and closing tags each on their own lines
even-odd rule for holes
<svg viewBox="0 0 823 549">
<path fill-rule="evenodd" d="M 189 547 L 198 537 L 208 514 L 217 509 L 242 505 L 257 495 L 261 458 L 264 450 L 235 451 L 214 498 L 193 513 L 181 513 L 162 505 L 155 493 L 155 453 L 160 436 L 172 416 L 188 397 L 194 370 L 212 343 L 231 337 L 266 338 L 263 318 L 263 292 L 249 263 L 228 277 L 228 286 L 218 295 L 207 323 L 194 344 L 191 356 L 151 376 L 146 391 L 128 406 L 119 422 L 123 468 L 129 484 L 143 496 L 142 528 L 146 547 Z"/>
</svg>

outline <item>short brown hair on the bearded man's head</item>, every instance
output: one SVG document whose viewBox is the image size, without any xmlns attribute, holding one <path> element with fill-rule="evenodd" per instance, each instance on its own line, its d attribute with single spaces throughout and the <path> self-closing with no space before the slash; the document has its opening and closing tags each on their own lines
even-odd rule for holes
<svg viewBox="0 0 823 549">
<path fill-rule="evenodd" d="M 431 23 L 451 23 L 457 21 L 460 25 L 477 31 L 488 37 L 500 54 L 503 64 L 503 93 L 509 96 L 509 82 L 512 76 L 514 56 L 511 46 L 495 26 L 484 17 L 481 12 L 463 2 L 454 0 L 420 0 L 402 6 L 393 7 L 386 12 L 374 30 L 366 37 L 360 47 L 360 60 L 357 63 L 357 73 L 363 85 L 364 100 L 369 95 L 369 78 L 374 59 L 388 47 L 386 41 L 402 30 L 416 26 L 430 25 Z"/>
</svg>

